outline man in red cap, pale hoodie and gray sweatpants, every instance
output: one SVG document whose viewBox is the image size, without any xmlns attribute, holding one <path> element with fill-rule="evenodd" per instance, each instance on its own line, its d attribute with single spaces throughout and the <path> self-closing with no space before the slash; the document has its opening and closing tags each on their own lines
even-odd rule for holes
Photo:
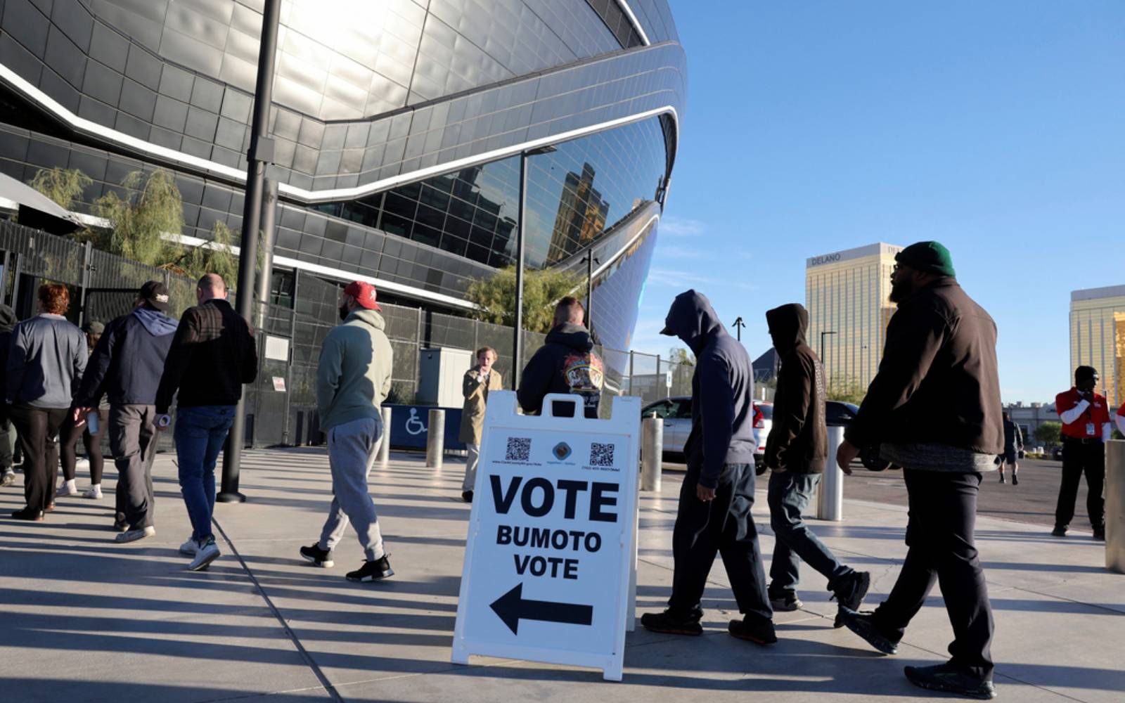
<svg viewBox="0 0 1125 703">
<path fill-rule="evenodd" d="M 368 493 L 367 475 L 379 442 L 387 441 L 379 405 L 390 393 L 390 342 L 384 333 L 375 286 L 349 283 L 340 295 L 340 319 L 324 337 L 316 370 L 316 405 L 321 429 L 328 438 L 332 506 L 321 539 L 302 547 L 300 556 L 315 566 L 333 566 L 332 550 L 349 523 L 363 548 L 363 566 L 348 580 L 374 582 L 394 576 L 379 531 L 379 517 Z"/>
</svg>

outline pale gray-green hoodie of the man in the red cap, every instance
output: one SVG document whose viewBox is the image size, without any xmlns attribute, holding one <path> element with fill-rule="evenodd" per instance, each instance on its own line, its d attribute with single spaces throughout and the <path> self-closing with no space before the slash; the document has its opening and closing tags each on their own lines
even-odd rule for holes
<svg viewBox="0 0 1125 703">
<path fill-rule="evenodd" d="M 359 308 L 324 337 L 316 369 L 321 430 L 379 417 L 379 405 L 390 393 L 394 355 L 386 326 L 382 315 Z"/>
</svg>

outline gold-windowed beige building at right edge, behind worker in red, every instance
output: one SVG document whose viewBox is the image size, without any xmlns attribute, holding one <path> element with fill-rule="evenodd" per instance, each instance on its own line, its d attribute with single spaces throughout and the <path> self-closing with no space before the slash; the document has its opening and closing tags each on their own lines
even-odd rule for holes
<svg viewBox="0 0 1125 703">
<path fill-rule="evenodd" d="M 1070 294 L 1070 371 L 1091 366 L 1113 406 L 1125 403 L 1125 286 Z"/>
</svg>

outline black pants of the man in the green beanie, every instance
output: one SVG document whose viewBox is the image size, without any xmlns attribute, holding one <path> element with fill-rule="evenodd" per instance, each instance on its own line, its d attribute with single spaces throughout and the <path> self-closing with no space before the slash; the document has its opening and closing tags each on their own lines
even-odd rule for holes
<svg viewBox="0 0 1125 703">
<path fill-rule="evenodd" d="M 951 664 L 981 681 L 992 678 L 992 606 L 973 530 L 980 474 L 903 469 L 910 519 L 902 570 L 875 609 L 874 624 L 902 637 L 936 580 L 953 625 Z"/>
</svg>

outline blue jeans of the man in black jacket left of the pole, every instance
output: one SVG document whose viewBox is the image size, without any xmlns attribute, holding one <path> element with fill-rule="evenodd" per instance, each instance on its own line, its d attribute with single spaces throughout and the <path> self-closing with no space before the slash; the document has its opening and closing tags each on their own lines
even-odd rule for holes
<svg viewBox="0 0 1125 703">
<path fill-rule="evenodd" d="M 176 411 L 176 457 L 180 463 L 180 493 L 191 520 L 191 539 L 213 538 L 215 462 L 234 423 L 234 405 L 201 405 Z"/>
</svg>

